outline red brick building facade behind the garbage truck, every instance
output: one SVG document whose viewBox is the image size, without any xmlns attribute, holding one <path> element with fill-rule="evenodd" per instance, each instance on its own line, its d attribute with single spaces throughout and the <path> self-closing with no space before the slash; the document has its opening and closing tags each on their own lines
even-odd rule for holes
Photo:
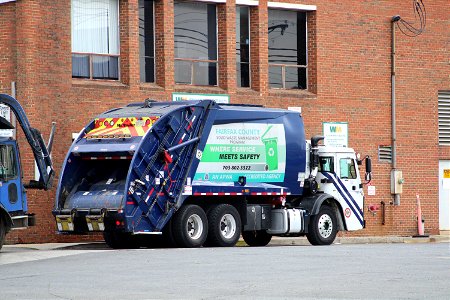
<svg viewBox="0 0 450 300">
<path fill-rule="evenodd" d="M 180 52 L 178 43 L 184 35 L 180 30 L 190 29 L 189 25 L 183 25 L 187 21 L 179 22 L 180 16 L 174 12 L 187 9 L 190 13 L 190 6 L 173 0 L 155 0 L 147 6 L 151 7 L 147 11 L 144 11 L 147 1 L 118 0 L 118 9 L 113 8 L 108 14 L 114 18 L 113 13 L 117 13 L 117 41 L 113 45 L 116 51 L 111 50 L 109 41 L 107 55 L 85 55 L 88 51 L 75 49 L 79 42 L 74 37 L 76 25 L 72 24 L 76 18 L 74 10 L 85 2 L 0 1 L 0 92 L 10 94 L 14 82 L 17 99 L 25 107 L 31 123 L 45 137 L 51 122 L 57 122 L 53 160 L 58 173 L 72 142 L 72 133 L 100 112 L 146 98 L 169 100 L 177 92 L 226 94 L 231 103 L 301 107 L 307 136 L 321 134 L 322 122 L 348 122 L 349 145 L 373 157 L 372 184 L 376 187 L 374 196 L 367 195 L 365 188 L 367 225 L 354 234 L 415 234 L 417 193 L 422 199 L 425 231 L 438 233 L 438 165 L 439 160 L 450 157 L 450 147 L 439 146 L 438 141 L 438 93 L 450 90 L 448 0 L 423 1 L 427 11 L 423 34 L 411 38 L 396 29 L 397 167 L 405 179 L 398 206 L 390 204 L 393 201 L 391 164 L 378 159 L 378 148 L 390 145 L 392 139 L 391 18 L 401 15 L 406 20 L 414 20 L 410 1 L 196 2 L 199 5 L 192 9 L 208 12 L 205 20 L 216 22 L 217 34 L 214 37 L 214 30 L 205 33 L 209 39 L 216 40 L 214 43 L 208 40 L 205 46 L 208 56 L 200 59 Z M 236 7 L 245 7 L 244 17 Z M 274 25 L 273 16 L 280 10 L 281 15 L 285 11 L 297 13 L 291 14 L 294 21 Z M 242 30 L 248 30 L 248 38 L 242 39 L 238 48 L 242 47 L 239 50 L 243 51 L 247 46 L 247 61 L 243 52 L 237 56 L 236 50 L 236 19 L 241 16 L 241 21 L 246 20 L 245 15 L 249 26 L 241 27 L 239 34 L 242 36 Z M 152 17 L 153 21 L 145 23 L 143 17 Z M 281 59 L 278 63 L 284 63 L 278 65 L 274 57 L 283 55 L 270 52 L 274 39 L 271 32 L 277 32 L 276 38 L 282 39 L 284 30 L 289 32 L 295 24 L 299 47 L 296 63 Z M 146 45 L 143 34 L 151 35 Z M 84 35 L 81 39 L 89 37 Z M 143 54 L 143 47 L 151 48 L 149 55 Z M 91 64 L 91 61 L 103 63 Z M 144 63 L 148 69 L 142 67 Z M 75 64 L 81 66 L 78 71 Z M 205 65 L 209 75 L 202 81 L 205 79 L 201 68 Z M 291 65 L 294 69 L 290 69 Z M 109 66 L 107 74 L 96 70 L 98 66 Z M 147 77 L 146 72 L 149 72 Z M 96 76 L 100 79 L 91 79 Z M 196 81 L 200 84 L 195 84 Z M 20 133 L 18 138 L 24 174 L 29 179 L 34 174 L 32 155 Z M 10 242 L 81 239 L 55 234 L 51 215 L 55 190 L 28 192 L 29 211 L 36 213 L 38 225 L 12 232 L 8 237 Z M 381 212 L 367 212 L 370 204 L 382 201 L 386 203 L 384 225 Z"/>
</svg>

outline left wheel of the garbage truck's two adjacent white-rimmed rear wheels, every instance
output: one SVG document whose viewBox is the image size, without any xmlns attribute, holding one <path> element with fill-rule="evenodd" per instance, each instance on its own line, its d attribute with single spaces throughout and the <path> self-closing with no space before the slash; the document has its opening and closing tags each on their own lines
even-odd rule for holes
<svg viewBox="0 0 450 300">
<path fill-rule="evenodd" d="M 174 215 L 172 234 L 178 247 L 201 247 L 208 235 L 208 219 L 198 205 L 182 206 Z"/>
</svg>

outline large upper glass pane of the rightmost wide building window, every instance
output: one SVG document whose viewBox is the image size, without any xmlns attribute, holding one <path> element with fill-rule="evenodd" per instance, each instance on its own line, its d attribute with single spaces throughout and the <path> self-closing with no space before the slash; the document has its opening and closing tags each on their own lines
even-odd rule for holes
<svg viewBox="0 0 450 300">
<path fill-rule="evenodd" d="M 298 14 L 303 12 L 269 10 L 269 63 L 297 65 L 299 62 L 300 32 L 306 36 L 305 23 L 298 25 Z M 306 19 L 306 17 L 305 17 Z M 304 38 L 303 38 L 304 39 Z M 302 54 L 306 60 L 306 53 Z"/>
</svg>

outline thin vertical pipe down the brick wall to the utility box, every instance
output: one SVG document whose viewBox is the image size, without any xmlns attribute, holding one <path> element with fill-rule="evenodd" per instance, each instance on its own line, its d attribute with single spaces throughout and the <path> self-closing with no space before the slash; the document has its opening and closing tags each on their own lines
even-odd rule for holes
<svg viewBox="0 0 450 300">
<path fill-rule="evenodd" d="M 391 124 L 392 124 L 392 170 L 397 169 L 397 129 L 395 118 L 395 25 L 400 20 L 400 16 L 393 16 L 391 19 Z M 394 194 L 394 205 L 400 205 L 400 195 Z"/>
</svg>

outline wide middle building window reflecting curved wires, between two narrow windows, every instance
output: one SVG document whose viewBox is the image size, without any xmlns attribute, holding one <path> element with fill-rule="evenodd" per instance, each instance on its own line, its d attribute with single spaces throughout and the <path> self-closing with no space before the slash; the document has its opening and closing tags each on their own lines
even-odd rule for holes
<svg viewBox="0 0 450 300">
<path fill-rule="evenodd" d="M 217 85 L 215 4 L 175 2 L 175 82 Z"/>
</svg>

